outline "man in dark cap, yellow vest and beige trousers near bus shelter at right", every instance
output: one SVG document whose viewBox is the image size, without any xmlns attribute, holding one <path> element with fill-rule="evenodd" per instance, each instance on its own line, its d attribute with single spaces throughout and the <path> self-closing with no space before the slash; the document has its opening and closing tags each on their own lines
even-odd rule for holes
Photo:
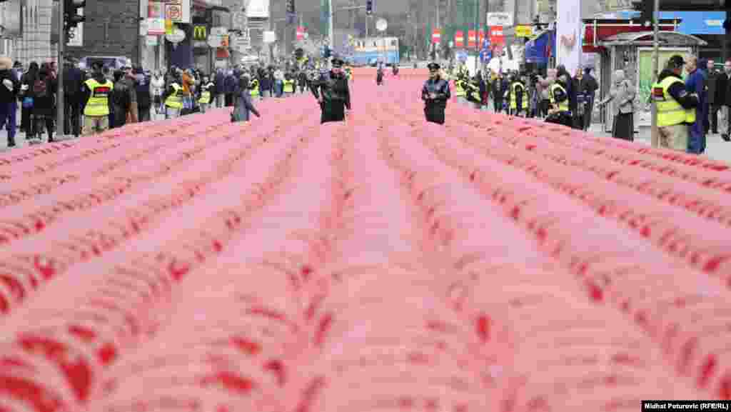
<svg viewBox="0 0 731 412">
<path fill-rule="evenodd" d="M 689 124 L 695 123 L 698 95 L 688 93 L 681 78 L 686 62 L 682 56 L 672 56 L 657 82 L 652 85 L 652 100 L 657 108 L 659 146 L 677 151 L 688 150 Z"/>
</svg>

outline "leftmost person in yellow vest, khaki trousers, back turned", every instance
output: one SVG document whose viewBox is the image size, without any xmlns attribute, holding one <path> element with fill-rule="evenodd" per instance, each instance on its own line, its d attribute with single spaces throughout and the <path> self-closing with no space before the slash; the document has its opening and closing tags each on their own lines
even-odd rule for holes
<svg viewBox="0 0 731 412">
<path fill-rule="evenodd" d="M 83 83 L 83 93 L 86 96 L 84 106 L 84 124 L 82 135 L 94 135 L 109 129 L 109 97 L 114 89 L 114 83 L 102 72 L 102 62 L 91 64 L 94 74 Z"/>
</svg>

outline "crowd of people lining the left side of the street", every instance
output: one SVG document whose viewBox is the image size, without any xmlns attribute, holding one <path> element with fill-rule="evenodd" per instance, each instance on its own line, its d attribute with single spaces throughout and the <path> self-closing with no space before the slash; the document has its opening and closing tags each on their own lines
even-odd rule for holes
<svg viewBox="0 0 731 412">
<path fill-rule="evenodd" d="M 260 116 L 254 102 L 314 92 L 325 73 L 321 61 L 276 61 L 237 65 L 206 73 L 200 67 L 150 71 L 142 67 L 114 69 L 96 61 L 83 67 L 65 61 L 62 86 L 64 135 L 93 135 L 127 123 L 171 119 L 209 108 L 233 107 L 232 121 Z M 352 79 L 349 67 L 346 78 Z M 16 146 L 17 132 L 29 143 L 53 142 L 58 104 L 55 62 L 26 66 L 0 57 L 0 128 L 7 129 L 8 146 Z M 20 119 L 18 119 L 18 112 Z M 45 137 L 45 138 L 44 138 Z"/>
</svg>

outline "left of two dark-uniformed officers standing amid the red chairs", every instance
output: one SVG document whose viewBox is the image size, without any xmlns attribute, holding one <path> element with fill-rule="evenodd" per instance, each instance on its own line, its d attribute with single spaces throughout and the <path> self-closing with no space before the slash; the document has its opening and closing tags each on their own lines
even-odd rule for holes
<svg viewBox="0 0 731 412">
<path fill-rule="evenodd" d="M 333 68 L 312 82 L 311 91 L 319 102 L 322 116 L 320 123 L 344 121 L 345 108 L 350 111 L 350 89 L 343 72 L 344 61 L 333 57 Z"/>
</svg>

